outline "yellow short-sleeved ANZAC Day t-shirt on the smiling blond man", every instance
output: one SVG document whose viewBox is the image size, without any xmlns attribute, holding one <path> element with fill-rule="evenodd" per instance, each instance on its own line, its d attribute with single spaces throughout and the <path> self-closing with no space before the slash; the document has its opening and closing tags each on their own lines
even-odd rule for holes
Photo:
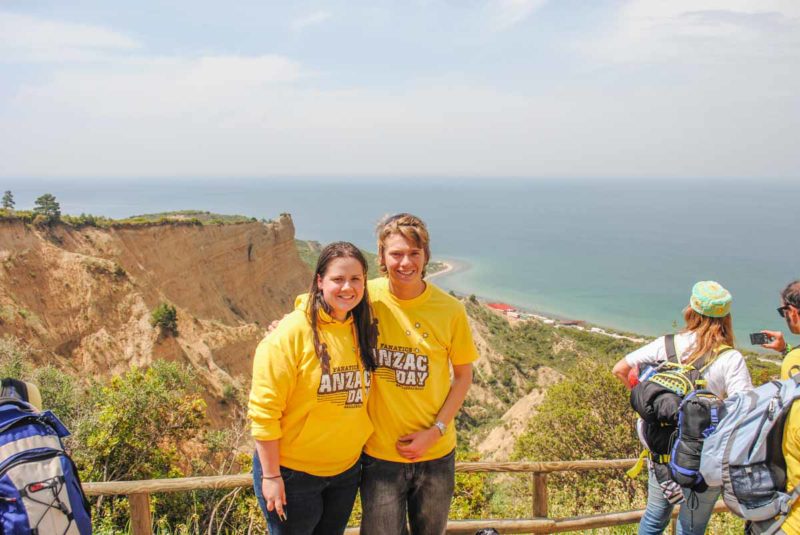
<svg viewBox="0 0 800 535">
<path fill-rule="evenodd" d="M 375 433 L 367 454 L 394 462 L 410 462 L 395 449 L 403 435 L 433 425 L 450 392 L 450 365 L 477 360 L 464 305 L 431 283 L 422 295 L 401 300 L 389 292 L 386 278 L 368 282 L 372 310 L 378 320 L 370 419 Z M 456 446 L 454 425 L 418 461 L 444 457 Z"/>
</svg>

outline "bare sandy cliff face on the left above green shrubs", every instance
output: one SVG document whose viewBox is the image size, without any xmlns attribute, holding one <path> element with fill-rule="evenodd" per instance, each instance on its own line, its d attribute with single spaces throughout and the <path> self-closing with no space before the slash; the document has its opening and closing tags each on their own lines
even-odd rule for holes
<svg viewBox="0 0 800 535">
<path fill-rule="evenodd" d="M 0 335 L 86 376 L 184 361 L 221 397 L 249 376 L 265 326 L 292 309 L 309 277 L 288 216 L 110 229 L 2 222 Z M 178 310 L 174 339 L 149 323 L 162 301 Z"/>
</svg>

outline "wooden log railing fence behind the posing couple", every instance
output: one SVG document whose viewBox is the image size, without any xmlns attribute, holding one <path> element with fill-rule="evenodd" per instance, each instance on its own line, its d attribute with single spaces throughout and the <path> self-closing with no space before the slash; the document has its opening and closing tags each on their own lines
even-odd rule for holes
<svg viewBox="0 0 800 535">
<path fill-rule="evenodd" d="M 494 528 L 500 533 L 560 533 L 584 529 L 604 528 L 639 522 L 643 509 L 601 513 L 570 518 L 549 518 L 547 512 L 547 475 L 553 472 L 587 472 L 592 470 L 627 469 L 636 459 L 555 461 L 541 463 L 456 463 L 456 472 L 523 472 L 531 475 L 533 499 L 529 519 L 451 520 L 447 533 L 474 534 L 479 529 Z M 156 492 L 185 492 L 201 489 L 234 489 L 250 487 L 250 474 L 212 477 L 187 477 L 180 479 L 151 479 L 146 481 L 110 481 L 106 483 L 84 483 L 88 496 L 127 496 L 130 502 L 131 530 L 133 535 L 151 535 L 150 494 Z M 714 511 L 727 508 L 720 501 Z M 673 512 L 677 515 L 678 508 Z M 358 528 L 349 528 L 348 535 L 358 533 Z"/>
</svg>

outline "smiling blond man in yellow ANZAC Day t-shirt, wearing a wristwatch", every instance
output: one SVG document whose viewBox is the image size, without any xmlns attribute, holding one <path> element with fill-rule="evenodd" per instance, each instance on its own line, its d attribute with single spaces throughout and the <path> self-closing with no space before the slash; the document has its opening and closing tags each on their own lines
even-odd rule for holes
<svg viewBox="0 0 800 535">
<path fill-rule="evenodd" d="M 454 418 L 478 358 L 464 305 L 424 280 L 425 223 L 398 214 L 378 227 L 386 278 L 369 281 L 378 343 L 362 455 L 362 535 L 441 535 L 455 484 Z M 452 370 L 452 380 L 451 380 Z"/>
</svg>

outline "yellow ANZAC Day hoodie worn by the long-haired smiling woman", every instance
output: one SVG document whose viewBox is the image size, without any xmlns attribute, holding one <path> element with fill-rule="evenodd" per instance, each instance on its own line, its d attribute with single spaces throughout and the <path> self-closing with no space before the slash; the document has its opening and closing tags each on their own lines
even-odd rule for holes
<svg viewBox="0 0 800 535">
<path fill-rule="evenodd" d="M 340 474 L 361 455 L 372 423 L 371 374 L 363 369 L 352 319 L 320 311 L 320 341 L 330 355 L 323 375 L 305 310 L 285 317 L 256 348 L 247 415 L 256 440 L 280 439 L 280 463 L 316 476 Z"/>
</svg>

